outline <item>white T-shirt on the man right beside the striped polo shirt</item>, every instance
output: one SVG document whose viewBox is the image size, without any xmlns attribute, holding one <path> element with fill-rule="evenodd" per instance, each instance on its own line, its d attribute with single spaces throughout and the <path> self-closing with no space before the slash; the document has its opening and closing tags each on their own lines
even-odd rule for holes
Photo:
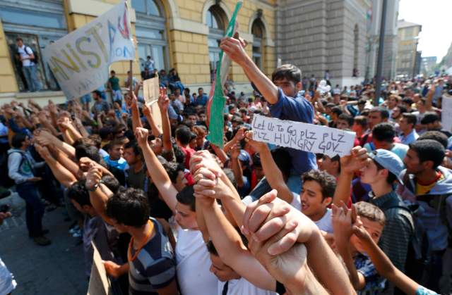
<svg viewBox="0 0 452 295">
<path fill-rule="evenodd" d="M 177 281 L 184 295 L 215 294 L 218 278 L 210 272 L 210 256 L 199 230 L 177 231 Z"/>
</svg>

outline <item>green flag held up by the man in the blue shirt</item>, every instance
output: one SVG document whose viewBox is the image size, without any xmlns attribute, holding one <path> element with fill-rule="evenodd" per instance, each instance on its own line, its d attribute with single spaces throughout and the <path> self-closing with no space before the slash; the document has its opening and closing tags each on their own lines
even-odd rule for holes
<svg viewBox="0 0 452 295">
<path fill-rule="evenodd" d="M 234 35 L 237 20 L 237 13 L 242 7 L 243 1 L 239 0 L 235 6 L 232 18 L 227 25 L 225 37 L 232 37 Z M 227 67 L 222 67 L 222 65 L 227 65 Z M 223 118 L 223 110 L 225 108 L 225 94 L 223 92 L 223 83 L 227 77 L 227 71 L 229 70 L 230 60 L 225 56 L 224 52 L 220 52 L 220 58 L 217 65 L 217 73 L 215 77 L 215 90 L 213 92 L 212 105 L 210 106 L 210 122 L 209 122 L 209 134 L 208 139 L 212 144 L 223 147 L 223 125 L 225 124 L 225 119 Z"/>
</svg>

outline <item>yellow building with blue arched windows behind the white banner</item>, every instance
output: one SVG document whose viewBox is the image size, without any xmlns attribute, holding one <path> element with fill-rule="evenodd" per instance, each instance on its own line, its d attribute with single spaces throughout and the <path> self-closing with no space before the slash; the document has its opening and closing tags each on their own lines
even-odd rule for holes
<svg viewBox="0 0 452 295">
<path fill-rule="evenodd" d="M 42 51 L 50 42 L 63 37 L 105 13 L 120 0 L 0 0 L 0 103 L 11 99 L 55 99 L 65 101 L 52 73 L 42 62 Z M 186 87 L 210 89 L 224 35 L 235 0 L 129 0 L 131 30 L 136 37 L 138 77 L 146 56 L 155 68 L 176 68 Z M 264 73 L 275 69 L 276 0 L 244 1 L 237 21 L 239 33 L 249 42 L 247 52 Z M 16 61 L 16 37 L 37 53 L 38 75 L 43 92 L 26 93 L 27 85 Z M 124 84 L 129 62 L 111 66 Z M 230 80 L 236 92 L 251 92 L 242 68 L 233 65 Z"/>
</svg>

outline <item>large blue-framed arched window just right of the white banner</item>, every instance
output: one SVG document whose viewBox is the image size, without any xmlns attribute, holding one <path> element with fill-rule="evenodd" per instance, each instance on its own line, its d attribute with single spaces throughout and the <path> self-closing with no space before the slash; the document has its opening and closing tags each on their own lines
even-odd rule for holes
<svg viewBox="0 0 452 295">
<path fill-rule="evenodd" d="M 145 70 L 148 56 L 154 61 L 153 68 L 168 68 L 168 44 L 165 9 L 159 0 L 132 0 L 136 11 L 136 39 L 141 71 Z"/>
</svg>

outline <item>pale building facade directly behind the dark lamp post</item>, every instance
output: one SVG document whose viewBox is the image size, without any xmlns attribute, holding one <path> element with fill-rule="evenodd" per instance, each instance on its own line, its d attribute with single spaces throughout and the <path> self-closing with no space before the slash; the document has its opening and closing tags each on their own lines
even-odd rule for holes
<svg viewBox="0 0 452 295">
<path fill-rule="evenodd" d="M 369 39 L 366 44 L 367 70 L 364 75 L 366 80 L 371 80 L 376 75 L 376 62 L 379 52 L 381 13 L 383 10 L 383 0 L 372 0 L 371 7 L 371 27 Z M 383 69 L 381 75 L 386 80 L 391 80 L 396 76 L 396 55 L 397 55 L 397 33 L 398 33 L 398 6 L 399 0 L 387 1 L 386 6 L 386 26 L 383 48 Z"/>
</svg>

